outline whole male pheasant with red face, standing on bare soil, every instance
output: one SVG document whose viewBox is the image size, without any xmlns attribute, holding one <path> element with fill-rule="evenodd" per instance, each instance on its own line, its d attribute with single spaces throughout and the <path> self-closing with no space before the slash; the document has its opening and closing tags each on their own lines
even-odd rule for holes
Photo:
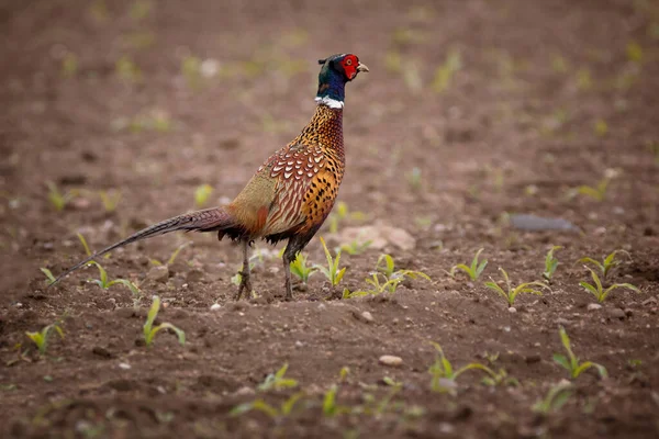
<svg viewBox="0 0 659 439">
<path fill-rule="evenodd" d="M 256 239 L 271 244 L 288 239 L 283 252 L 286 300 L 292 300 L 290 263 L 295 260 L 330 214 L 344 176 L 343 108 L 345 86 L 368 67 L 353 54 L 319 60 L 317 106 L 302 133 L 275 153 L 224 206 L 165 219 L 98 251 L 60 274 L 56 282 L 100 256 L 126 244 L 170 232 L 217 232 L 243 247 L 241 285 L 235 295 L 252 292 L 249 246 Z"/>
</svg>

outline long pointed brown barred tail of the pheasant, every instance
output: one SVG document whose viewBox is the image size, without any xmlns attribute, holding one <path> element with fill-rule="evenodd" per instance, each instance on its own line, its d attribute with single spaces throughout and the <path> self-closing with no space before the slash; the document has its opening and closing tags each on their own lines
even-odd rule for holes
<svg viewBox="0 0 659 439">
<path fill-rule="evenodd" d="M 186 230 L 186 232 L 214 232 L 222 230 L 235 226 L 234 217 L 222 207 L 206 209 L 203 211 L 190 212 L 183 215 L 175 216 L 169 219 L 161 221 L 160 223 L 154 224 L 153 226 L 146 227 L 135 234 L 129 236 L 126 239 L 121 240 L 107 247 L 81 262 L 76 263 L 74 267 L 59 274 L 57 279 L 51 285 L 59 282 L 80 267 L 91 262 L 92 260 L 100 258 L 101 256 L 110 252 L 119 247 L 123 247 L 127 244 L 135 243 L 142 239 L 153 238 L 154 236 L 168 234 L 170 232 Z"/>
</svg>

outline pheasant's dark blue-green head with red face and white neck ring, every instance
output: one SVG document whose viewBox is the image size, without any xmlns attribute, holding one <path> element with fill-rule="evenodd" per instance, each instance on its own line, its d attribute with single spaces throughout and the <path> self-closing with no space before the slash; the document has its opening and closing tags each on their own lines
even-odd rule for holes
<svg viewBox="0 0 659 439">
<path fill-rule="evenodd" d="M 357 74 L 368 72 L 368 67 L 359 63 L 359 58 L 353 54 L 332 55 L 319 59 L 319 64 L 323 67 L 319 74 L 316 102 L 332 109 L 343 109 L 346 83 L 355 79 Z"/>
</svg>

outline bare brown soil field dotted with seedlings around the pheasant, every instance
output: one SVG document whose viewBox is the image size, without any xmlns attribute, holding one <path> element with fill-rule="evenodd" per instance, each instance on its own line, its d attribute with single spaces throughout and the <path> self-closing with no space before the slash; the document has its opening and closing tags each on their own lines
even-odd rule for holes
<svg viewBox="0 0 659 439">
<path fill-rule="evenodd" d="M 656 1 L 2 1 L 0 27 L 0 436 L 659 437 Z M 319 236 L 359 247 L 346 229 L 391 226 L 411 244 L 344 251 L 342 283 L 315 273 L 294 302 L 257 243 L 256 295 L 235 303 L 239 248 L 205 235 L 102 259 L 139 297 L 90 282 L 93 267 L 45 289 L 40 268 L 85 257 L 77 233 L 102 248 L 194 209 L 202 184 L 208 205 L 231 200 L 311 116 L 315 60 L 343 52 L 371 72 L 347 87 L 348 214 Z M 60 211 L 48 182 L 71 195 Z M 526 232 L 513 214 L 579 230 Z M 540 281 L 554 245 L 551 291 L 521 294 L 516 312 L 483 285 L 499 267 Z M 447 274 L 479 248 L 480 279 Z M 592 306 L 578 260 L 618 249 L 605 286 L 640 292 Z M 340 299 L 369 286 L 386 252 L 432 280 Z M 325 260 L 317 237 L 305 254 Z M 165 330 L 144 346 L 154 294 L 185 346 Z M 40 356 L 25 331 L 56 323 L 65 338 L 53 330 Z M 563 382 L 569 398 L 543 415 L 536 402 L 570 379 L 552 359 L 560 326 L 608 378 Z M 470 370 L 433 386 L 431 341 L 456 369 L 507 378 Z M 295 382 L 259 387 L 286 363 Z M 259 399 L 269 414 L 235 412 Z"/>
</svg>

